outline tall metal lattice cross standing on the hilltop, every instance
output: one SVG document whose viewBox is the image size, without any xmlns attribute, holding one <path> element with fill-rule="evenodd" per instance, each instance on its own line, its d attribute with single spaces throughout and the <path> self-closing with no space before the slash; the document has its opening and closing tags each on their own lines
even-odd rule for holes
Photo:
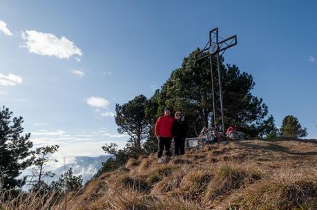
<svg viewBox="0 0 317 210">
<path fill-rule="evenodd" d="M 220 56 L 223 55 L 224 51 L 232 46 L 238 44 L 237 35 L 233 35 L 227 39 L 222 39 L 219 41 L 218 28 L 214 28 L 209 31 L 209 41 L 203 50 L 195 54 L 195 62 L 198 62 L 202 59 L 209 61 L 210 71 L 211 71 L 211 90 L 213 93 L 213 126 L 217 126 L 217 117 L 221 115 L 221 128 L 218 128 L 218 131 L 224 133 L 224 105 L 223 105 L 223 96 L 222 96 L 222 86 L 221 86 L 221 70 L 220 70 Z M 221 55 L 220 55 L 221 53 Z M 213 63 L 213 59 L 216 59 L 216 62 Z M 213 64 L 216 66 L 216 70 L 213 70 Z"/>
</svg>

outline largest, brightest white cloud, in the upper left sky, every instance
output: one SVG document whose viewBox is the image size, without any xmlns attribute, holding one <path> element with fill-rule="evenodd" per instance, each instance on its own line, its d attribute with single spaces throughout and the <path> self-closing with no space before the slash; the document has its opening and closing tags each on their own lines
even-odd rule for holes
<svg viewBox="0 0 317 210">
<path fill-rule="evenodd" d="M 81 49 L 66 37 L 59 38 L 53 34 L 26 30 L 22 32 L 22 38 L 26 40 L 25 47 L 28 51 L 37 55 L 55 56 L 59 59 L 82 55 Z"/>
</svg>

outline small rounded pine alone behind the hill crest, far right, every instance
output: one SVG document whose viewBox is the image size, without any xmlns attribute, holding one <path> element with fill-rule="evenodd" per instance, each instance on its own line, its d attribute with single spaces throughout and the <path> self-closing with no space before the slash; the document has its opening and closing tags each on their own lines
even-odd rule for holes
<svg viewBox="0 0 317 210">
<path fill-rule="evenodd" d="M 307 128 L 302 128 L 297 118 L 293 115 L 287 115 L 282 121 L 280 133 L 285 137 L 305 137 L 307 136 Z"/>
</svg>

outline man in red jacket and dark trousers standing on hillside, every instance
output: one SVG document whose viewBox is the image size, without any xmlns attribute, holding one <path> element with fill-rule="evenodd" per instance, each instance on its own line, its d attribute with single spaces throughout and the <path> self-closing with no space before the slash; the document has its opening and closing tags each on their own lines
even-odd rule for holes
<svg viewBox="0 0 317 210">
<path fill-rule="evenodd" d="M 164 147 L 166 155 L 170 156 L 171 142 L 172 142 L 172 124 L 174 117 L 171 117 L 171 108 L 166 107 L 164 115 L 159 117 L 155 123 L 155 136 L 159 141 L 159 151 L 157 152 L 158 162 L 162 162 Z"/>
</svg>

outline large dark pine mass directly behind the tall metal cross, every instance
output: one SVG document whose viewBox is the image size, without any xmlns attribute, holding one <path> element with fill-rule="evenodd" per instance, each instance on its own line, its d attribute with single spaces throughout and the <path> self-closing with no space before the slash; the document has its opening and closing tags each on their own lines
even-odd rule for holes
<svg viewBox="0 0 317 210">
<path fill-rule="evenodd" d="M 184 112 L 192 137 L 197 136 L 204 126 L 209 126 L 214 114 L 210 64 L 207 61 L 195 63 L 198 51 L 185 57 L 182 66 L 173 70 L 162 89 L 149 99 L 154 109 L 156 107 L 156 115 L 152 115 L 155 119 L 163 113 L 165 106 Z M 255 86 L 252 75 L 241 72 L 236 65 L 224 65 L 223 58 L 220 70 L 225 126 L 234 123 L 250 136 L 260 135 L 258 128 L 267 120 L 268 108 L 261 98 L 251 93 Z M 153 112 L 150 109 L 150 113 Z"/>
</svg>

